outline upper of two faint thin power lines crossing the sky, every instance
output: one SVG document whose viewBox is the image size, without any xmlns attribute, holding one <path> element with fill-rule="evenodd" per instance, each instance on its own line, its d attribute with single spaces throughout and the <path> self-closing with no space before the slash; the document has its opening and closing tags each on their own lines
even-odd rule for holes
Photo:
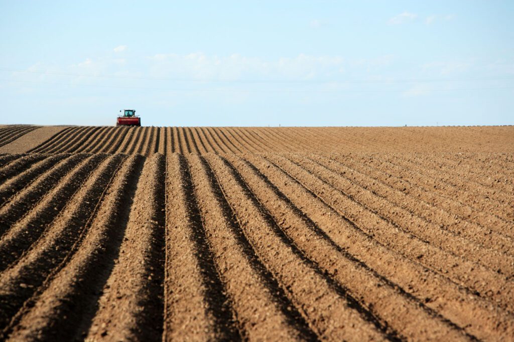
<svg viewBox="0 0 514 342">
<path fill-rule="evenodd" d="M 433 79 L 390 79 L 390 80 L 238 80 L 238 79 L 194 80 L 194 79 L 178 79 L 178 78 L 140 77 L 140 76 L 131 76 L 131 75 L 113 75 L 113 74 L 80 74 L 80 73 L 35 71 L 35 70 L 10 69 L 10 68 L 0 68 L 0 71 L 36 73 L 36 74 L 72 76 L 72 77 L 173 81 L 173 82 L 191 82 L 191 83 L 291 83 L 291 84 L 293 84 L 293 83 L 348 83 L 348 84 L 363 83 L 363 84 L 373 84 L 373 83 L 419 83 L 419 82 L 514 80 L 514 76 L 446 78 L 446 79 L 437 79 L 437 78 L 433 78 Z"/>
</svg>

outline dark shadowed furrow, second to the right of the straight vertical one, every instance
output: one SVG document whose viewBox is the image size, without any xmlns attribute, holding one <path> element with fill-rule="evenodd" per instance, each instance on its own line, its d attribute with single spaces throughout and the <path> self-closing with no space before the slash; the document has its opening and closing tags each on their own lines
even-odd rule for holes
<svg viewBox="0 0 514 342">
<path fill-rule="evenodd" d="M 225 198 L 221 186 L 216 180 L 216 177 L 209 163 L 202 156 L 199 156 L 199 160 L 207 174 L 207 178 L 209 179 L 209 183 L 214 195 L 221 203 L 221 208 L 224 216 L 227 218 L 228 225 L 230 226 L 238 244 L 241 246 L 243 254 L 249 261 L 252 269 L 260 276 L 261 280 L 264 282 L 265 287 L 269 290 L 269 294 L 277 303 L 284 317 L 287 318 L 288 323 L 300 332 L 301 338 L 305 340 L 318 340 L 317 335 L 309 328 L 307 322 L 297 310 L 296 306 L 293 305 L 289 298 L 287 298 L 284 289 L 279 285 L 277 279 L 271 274 L 271 272 L 265 267 L 265 265 L 256 255 L 241 226 L 238 224 L 235 213 L 232 211 L 230 204 Z"/>
</svg>

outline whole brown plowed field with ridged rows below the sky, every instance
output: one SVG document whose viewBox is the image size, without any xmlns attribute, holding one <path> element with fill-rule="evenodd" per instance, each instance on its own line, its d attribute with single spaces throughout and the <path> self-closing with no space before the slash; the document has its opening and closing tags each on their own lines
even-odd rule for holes
<svg viewBox="0 0 514 342">
<path fill-rule="evenodd" d="M 514 340 L 514 127 L 0 126 L 0 340 Z"/>
</svg>

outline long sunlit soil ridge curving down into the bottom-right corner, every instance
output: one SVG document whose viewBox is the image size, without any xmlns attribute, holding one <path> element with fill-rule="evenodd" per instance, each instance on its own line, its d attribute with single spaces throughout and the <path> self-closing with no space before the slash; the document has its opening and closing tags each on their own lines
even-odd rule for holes
<svg viewBox="0 0 514 342">
<path fill-rule="evenodd" d="M 511 339 L 510 313 L 446 277 L 392 251 L 334 211 L 282 169 L 256 155 L 245 155 L 291 203 L 302 210 L 340 248 L 390 279 L 425 305 L 478 338 Z"/>
</svg>

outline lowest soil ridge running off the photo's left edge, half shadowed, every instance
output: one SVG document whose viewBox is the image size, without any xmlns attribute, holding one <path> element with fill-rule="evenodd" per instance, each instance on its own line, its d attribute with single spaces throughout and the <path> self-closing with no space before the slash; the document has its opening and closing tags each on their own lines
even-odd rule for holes
<svg viewBox="0 0 514 342">
<path fill-rule="evenodd" d="M 0 305 L 4 308 L 0 330 L 66 258 L 94 215 L 123 158 L 114 155 L 103 161 L 53 220 L 51 229 L 13 267 L 0 275 Z"/>
</svg>

